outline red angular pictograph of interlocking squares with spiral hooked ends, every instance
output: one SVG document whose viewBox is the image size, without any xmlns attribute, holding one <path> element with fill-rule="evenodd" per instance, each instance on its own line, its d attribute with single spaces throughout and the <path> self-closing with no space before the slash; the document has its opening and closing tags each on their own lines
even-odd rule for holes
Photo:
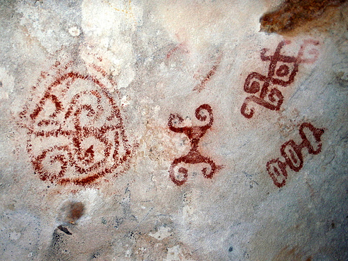
<svg viewBox="0 0 348 261">
<path fill-rule="evenodd" d="M 317 60 L 319 52 L 315 48 L 308 50 L 308 54 L 312 56 L 311 58 L 303 58 L 303 54 L 308 46 L 315 47 L 319 45 L 319 41 L 305 40 L 296 57 L 280 54 L 281 49 L 290 43 L 289 40 L 281 41 L 276 47 L 274 55 L 270 56 L 266 56 L 269 49 L 261 50 L 261 60 L 269 61 L 269 68 L 267 75 L 251 72 L 246 77 L 244 91 L 253 95 L 246 97 L 242 104 L 241 113 L 245 118 L 252 118 L 255 113 L 253 106 L 250 106 L 252 102 L 272 111 L 279 111 L 284 96 L 276 86 L 289 86 L 299 71 L 300 63 L 314 63 Z"/>
</svg>

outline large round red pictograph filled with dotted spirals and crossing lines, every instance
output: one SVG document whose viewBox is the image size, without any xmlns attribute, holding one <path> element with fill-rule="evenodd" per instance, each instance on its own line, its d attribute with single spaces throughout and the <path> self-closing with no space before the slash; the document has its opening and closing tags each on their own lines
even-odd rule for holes
<svg viewBox="0 0 348 261">
<path fill-rule="evenodd" d="M 29 134 L 27 151 L 41 180 L 96 184 L 125 171 L 137 144 L 129 145 L 120 109 L 106 88 L 115 82 L 97 65 L 81 69 L 86 73 L 70 67 L 73 61 L 54 75 L 42 72 L 33 87 L 34 94 L 43 90 L 42 96 L 30 99 L 20 113 Z"/>
</svg>

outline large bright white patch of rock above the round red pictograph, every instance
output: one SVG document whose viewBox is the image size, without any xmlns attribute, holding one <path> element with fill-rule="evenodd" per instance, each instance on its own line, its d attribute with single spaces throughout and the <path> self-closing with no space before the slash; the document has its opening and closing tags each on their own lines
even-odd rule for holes
<svg viewBox="0 0 348 261">
<path fill-rule="evenodd" d="M 86 43 L 106 52 L 104 57 L 113 77 L 118 79 L 118 88 L 126 88 L 135 77 L 135 56 L 132 33 L 135 31 L 135 16 L 132 3 L 128 1 L 83 1 L 82 29 Z M 117 42 L 117 44 L 115 44 Z M 102 50 L 98 50 L 102 49 Z M 94 50 L 93 50 L 94 51 Z"/>
</svg>

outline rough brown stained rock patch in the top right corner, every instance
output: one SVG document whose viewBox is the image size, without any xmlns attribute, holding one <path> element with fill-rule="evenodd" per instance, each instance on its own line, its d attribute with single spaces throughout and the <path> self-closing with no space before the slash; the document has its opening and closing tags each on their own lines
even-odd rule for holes
<svg viewBox="0 0 348 261">
<path fill-rule="evenodd" d="M 288 35 L 324 26 L 326 22 L 332 22 L 333 13 L 346 1 L 285 0 L 276 10 L 262 15 L 260 31 Z"/>
</svg>

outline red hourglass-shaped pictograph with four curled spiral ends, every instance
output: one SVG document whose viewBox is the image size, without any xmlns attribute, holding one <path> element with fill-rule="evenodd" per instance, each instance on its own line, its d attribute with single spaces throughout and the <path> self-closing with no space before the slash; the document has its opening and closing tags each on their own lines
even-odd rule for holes
<svg viewBox="0 0 348 261">
<path fill-rule="evenodd" d="M 207 124 L 203 126 L 178 127 L 178 125 L 184 121 L 182 116 L 178 114 L 171 114 L 171 116 L 169 116 L 169 129 L 171 129 L 172 132 L 185 134 L 189 138 L 191 145 L 189 153 L 180 158 L 174 159 L 171 167 L 169 168 L 169 176 L 177 186 L 181 186 L 187 182 L 189 175 L 189 170 L 187 167 L 185 167 L 187 164 L 208 165 L 208 168 L 210 168 L 209 171 L 206 166 L 201 170 L 203 176 L 206 178 L 212 178 L 214 173 L 219 171 L 221 168 L 221 166 L 217 166 L 212 159 L 209 157 L 204 157 L 198 151 L 198 143 L 200 138 L 205 135 L 210 127 L 212 127 L 214 121 L 212 108 L 208 104 L 202 104 L 196 109 L 195 116 L 198 120 L 201 122 L 207 122 Z"/>
</svg>

